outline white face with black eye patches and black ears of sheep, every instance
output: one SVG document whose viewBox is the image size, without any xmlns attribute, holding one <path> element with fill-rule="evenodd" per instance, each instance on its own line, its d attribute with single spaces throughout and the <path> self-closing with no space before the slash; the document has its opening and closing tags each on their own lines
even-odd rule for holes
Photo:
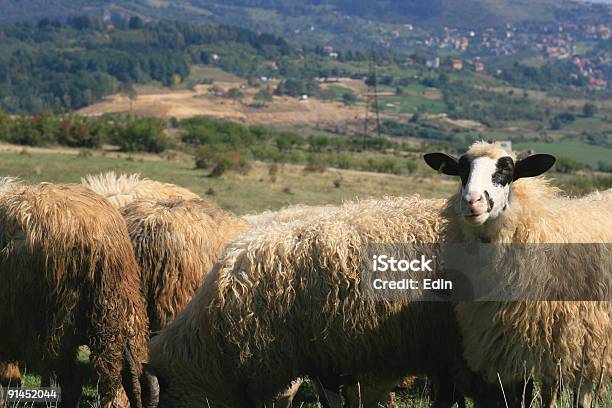
<svg viewBox="0 0 612 408">
<path fill-rule="evenodd" d="M 512 182 L 544 173 L 555 163 L 555 158 L 536 154 L 515 163 L 510 156 L 494 160 L 464 154 L 457 160 L 445 153 L 429 153 L 425 161 L 434 170 L 461 178 L 461 215 L 469 223 L 484 224 L 508 208 Z"/>
</svg>

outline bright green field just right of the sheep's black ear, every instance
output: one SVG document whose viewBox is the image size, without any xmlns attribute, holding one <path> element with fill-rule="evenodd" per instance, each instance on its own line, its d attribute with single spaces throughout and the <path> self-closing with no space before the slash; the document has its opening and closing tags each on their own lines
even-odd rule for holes
<svg viewBox="0 0 612 408">
<path fill-rule="evenodd" d="M 566 156 L 582 163 L 597 167 L 598 162 L 612 164 L 612 149 L 579 142 L 527 142 L 514 145 L 515 149 L 534 149 L 538 153 Z"/>
</svg>

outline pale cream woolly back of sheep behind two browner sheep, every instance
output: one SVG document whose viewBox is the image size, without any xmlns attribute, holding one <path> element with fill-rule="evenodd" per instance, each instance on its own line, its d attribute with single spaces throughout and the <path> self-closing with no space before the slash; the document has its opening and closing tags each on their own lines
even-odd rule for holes
<svg viewBox="0 0 612 408">
<path fill-rule="evenodd" d="M 111 171 L 86 176 L 81 179 L 81 184 L 106 197 L 116 208 L 124 207 L 137 199 L 199 198 L 197 194 L 186 188 L 142 179 L 138 174 L 117 176 Z"/>
</svg>

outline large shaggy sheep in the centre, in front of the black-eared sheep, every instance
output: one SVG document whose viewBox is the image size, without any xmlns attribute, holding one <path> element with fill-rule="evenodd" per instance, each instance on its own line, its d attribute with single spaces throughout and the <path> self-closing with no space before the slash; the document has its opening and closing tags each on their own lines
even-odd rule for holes
<svg viewBox="0 0 612 408">
<path fill-rule="evenodd" d="M 461 378 L 466 369 L 450 304 L 375 301 L 360 291 L 365 246 L 437 242 L 444 203 L 372 199 L 251 228 L 151 340 L 143 380 L 157 379 L 161 394 L 143 400 L 160 397 L 160 407 L 261 406 L 311 375 L 324 384 L 372 379 L 368 390 L 378 392 L 362 392 L 370 407 L 406 373 Z M 444 391 L 437 407 L 451 406 L 452 389 Z"/>
</svg>

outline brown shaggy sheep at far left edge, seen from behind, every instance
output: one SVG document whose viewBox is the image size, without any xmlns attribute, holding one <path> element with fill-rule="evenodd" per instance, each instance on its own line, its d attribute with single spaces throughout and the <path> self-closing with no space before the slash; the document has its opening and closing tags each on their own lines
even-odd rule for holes
<svg viewBox="0 0 612 408">
<path fill-rule="evenodd" d="M 76 351 L 86 344 L 103 406 L 121 382 L 138 393 L 148 327 L 119 212 L 83 186 L 12 186 L 0 194 L 0 248 L 0 332 L 10 333 L 0 337 L 0 361 L 55 371 L 62 405 L 74 407 Z"/>
</svg>

